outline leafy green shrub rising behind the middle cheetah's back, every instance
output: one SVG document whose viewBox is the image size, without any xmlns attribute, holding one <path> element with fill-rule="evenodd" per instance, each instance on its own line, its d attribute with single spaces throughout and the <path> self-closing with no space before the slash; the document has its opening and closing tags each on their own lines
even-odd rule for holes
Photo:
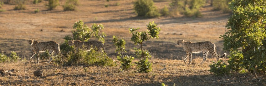
<svg viewBox="0 0 266 86">
<path fill-rule="evenodd" d="M 73 29 L 75 29 L 76 31 L 72 31 L 72 36 L 65 36 L 64 43 L 60 45 L 60 50 L 62 52 L 69 52 L 70 50 L 73 50 L 73 47 L 69 46 L 68 44 L 69 40 L 88 41 L 91 37 L 96 37 L 97 39 L 99 39 L 99 41 L 105 43 L 104 38 L 106 34 L 104 32 L 100 33 L 100 29 L 104 29 L 104 26 L 102 24 L 93 24 L 91 28 L 89 28 L 88 26 L 84 25 L 84 22 L 82 22 L 82 20 L 80 20 L 78 22 L 75 22 Z"/>
</svg>

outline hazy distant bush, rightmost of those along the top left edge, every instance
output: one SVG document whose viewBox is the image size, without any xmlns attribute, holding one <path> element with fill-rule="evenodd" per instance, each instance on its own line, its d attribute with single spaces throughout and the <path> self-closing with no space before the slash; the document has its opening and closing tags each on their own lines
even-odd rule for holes
<svg viewBox="0 0 266 86">
<path fill-rule="evenodd" d="M 63 8 L 64 11 L 74 11 L 77 5 L 79 5 L 79 0 L 67 0 Z"/>
</svg>

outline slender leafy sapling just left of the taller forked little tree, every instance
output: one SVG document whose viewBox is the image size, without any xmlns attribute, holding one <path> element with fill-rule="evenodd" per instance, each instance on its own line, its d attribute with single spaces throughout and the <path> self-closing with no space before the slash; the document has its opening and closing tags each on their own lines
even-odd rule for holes
<svg viewBox="0 0 266 86">
<path fill-rule="evenodd" d="M 132 65 L 131 64 L 132 60 L 134 60 L 134 57 L 131 57 L 129 55 L 123 55 L 123 52 L 125 51 L 125 40 L 124 39 L 120 39 L 118 40 L 117 36 L 113 36 L 113 40 L 112 42 L 114 42 L 114 45 L 116 47 L 115 52 L 117 53 L 117 60 L 120 61 L 121 66 L 120 69 L 122 70 L 128 70 Z"/>
</svg>

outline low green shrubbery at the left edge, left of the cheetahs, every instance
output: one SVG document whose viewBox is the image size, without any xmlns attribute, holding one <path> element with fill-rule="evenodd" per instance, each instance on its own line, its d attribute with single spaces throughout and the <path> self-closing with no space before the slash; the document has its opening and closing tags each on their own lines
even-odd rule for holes
<svg viewBox="0 0 266 86">
<path fill-rule="evenodd" d="M 18 60 L 21 60 L 21 58 L 14 51 L 11 51 L 10 57 L 8 57 L 7 55 L 4 55 L 3 53 L 0 54 L 0 63 L 17 62 Z"/>
</svg>

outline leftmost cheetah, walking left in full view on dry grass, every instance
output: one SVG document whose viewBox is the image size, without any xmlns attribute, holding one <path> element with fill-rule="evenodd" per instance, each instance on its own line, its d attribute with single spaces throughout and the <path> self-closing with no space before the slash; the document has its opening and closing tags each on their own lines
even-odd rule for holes
<svg viewBox="0 0 266 86">
<path fill-rule="evenodd" d="M 55 41 L 47 41 L 47 42 L 39 42 L 36 40 L 28 40 L 29 45 L 31 46 L 31 49 L 33 51 L 32 55 L 30 56 L 30 63 L 32 57 L 37 53 L 38 58 L 38 64 L 39 64 L 39 52 L 44 52 L 45 50 L 49 50 L 49 55 L 51 55 L 50 60 L 48 61 L 48 64 L 53 60 L 53 52 L 59 56 L 61 55 L 59 44 Z"/>
</svg>

